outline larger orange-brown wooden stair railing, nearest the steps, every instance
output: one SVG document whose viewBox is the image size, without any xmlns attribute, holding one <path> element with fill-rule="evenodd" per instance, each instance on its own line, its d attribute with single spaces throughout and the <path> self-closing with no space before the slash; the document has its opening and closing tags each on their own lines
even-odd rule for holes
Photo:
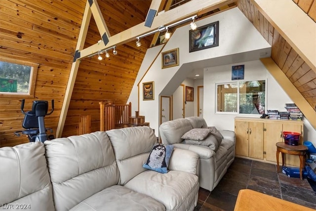
<svg viewBox="0 0 316 211">
<path fill-rule="evenodd" d="M 114 105 L 99 102 L 100 104 L 100 131 L 123 127 L 129 122 L 132 103 L 127 105 Z"/>
</svg>

